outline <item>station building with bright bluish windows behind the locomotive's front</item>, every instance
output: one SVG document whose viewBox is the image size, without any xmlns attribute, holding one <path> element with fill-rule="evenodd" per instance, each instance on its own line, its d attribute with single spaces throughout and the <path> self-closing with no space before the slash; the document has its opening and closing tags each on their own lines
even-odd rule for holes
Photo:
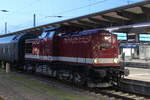
<svg viewBox="0 0 150 100">
<path fill-rule="evenodd" d="M 120 40 L 120 55 L 125 54 L 126 60 L 150 60 L 149 33 L 117 33 Z"/>
</svg>

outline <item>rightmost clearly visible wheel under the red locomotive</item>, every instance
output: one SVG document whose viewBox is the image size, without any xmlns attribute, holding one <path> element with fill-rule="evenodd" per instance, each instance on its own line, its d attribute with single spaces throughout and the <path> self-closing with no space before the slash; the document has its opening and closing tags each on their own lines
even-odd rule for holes
<svg viewBox="0 0 150 100">
<path fill-rule="evenodd" d="M 85 84 L 84 75 L 78 72 L 73 74 L 73 83 L 77 86 L 82 86 Z"/>
</svg>

